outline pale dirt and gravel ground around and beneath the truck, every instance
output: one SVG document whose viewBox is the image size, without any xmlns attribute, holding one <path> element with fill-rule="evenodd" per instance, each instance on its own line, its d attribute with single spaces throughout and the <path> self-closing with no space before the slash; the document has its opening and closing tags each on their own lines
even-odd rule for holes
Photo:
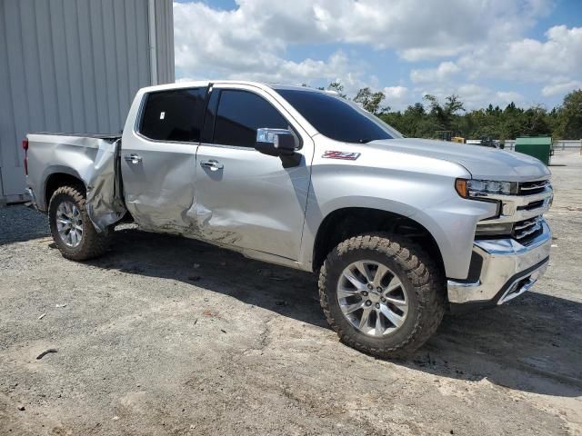
<svg viewBox="0 0 582 436">
<path fill-rule="evenodd" d="M 553 163 L 535 292 L 406 362 L 338 342 L 309 274 L 127 226 L 73 263 L 0 208 L 0 434 L 580 435 L 582 156 Z"/>
</svg>

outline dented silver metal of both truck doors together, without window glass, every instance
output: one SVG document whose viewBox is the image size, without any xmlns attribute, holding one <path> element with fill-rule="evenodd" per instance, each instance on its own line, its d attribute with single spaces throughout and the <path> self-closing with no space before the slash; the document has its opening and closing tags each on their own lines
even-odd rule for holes
<svg viewBox="0 0 582 436">
<path fill-rule="evenodd" d="M 252 90 L 289 114 L 264 89 L 253 86 Z M 298 162 L 286 166 L 281 159 L 252 148 L 147 139 L 137 133 L 147 91 L 135 95 L 122 143 L 125 204 L 135 222 L 147 231 L 202 239 L 252 257 L 271 253 L 282 260 L 296 260 L 313 140 L 294 116 L 289 114 L 288 119 L 304 145 Z M 222 169 L 203 168 L 201 164 L 208 160 L 219 161 Z"/>
</svg>

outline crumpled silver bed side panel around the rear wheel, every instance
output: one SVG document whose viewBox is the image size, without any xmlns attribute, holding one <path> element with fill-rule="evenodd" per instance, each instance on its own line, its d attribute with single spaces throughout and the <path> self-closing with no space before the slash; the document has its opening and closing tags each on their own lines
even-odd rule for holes
<svg viewBox="0 0 582 436">
<path fill-rule="evenodd" d="M 65 173 L 85 183 L 87 214 L 98 232 L 124 217 L 119 137 L 28 134 L 28 141 L 27 183 L 38 199 L 40 210 L 48 209 L 47 180 L 57 173 Z"/>
</svg>

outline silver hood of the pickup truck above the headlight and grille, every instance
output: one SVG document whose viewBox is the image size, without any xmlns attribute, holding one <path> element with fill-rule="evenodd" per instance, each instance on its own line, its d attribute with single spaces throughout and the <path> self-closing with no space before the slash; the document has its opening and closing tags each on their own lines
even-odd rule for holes
<svg viewBox="0 0 582 436">
<path fill-rule="evenodd" d="M 464 166 L 475 179 L 525 182 L 550 172 L 535 157 L 496 148 L 416 138 L 378 140 L 366 144 L 379 150 L 440 159 Z"/>
</svg>

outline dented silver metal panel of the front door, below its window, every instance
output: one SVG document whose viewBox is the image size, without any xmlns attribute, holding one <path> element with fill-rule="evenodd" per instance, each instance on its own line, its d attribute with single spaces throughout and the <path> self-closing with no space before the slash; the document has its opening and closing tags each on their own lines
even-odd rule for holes
<svg viewBox="0 0 582 436">
<path fill-rule="evenodd" d="M 296 260 L 305 220 L 311 144 L 286 167 L 278 157 L 244 147 L 201 144 L 196 218 L 206 241 Z M 200 163 L 216 161 L 220 170 Z"/>
</svg>

